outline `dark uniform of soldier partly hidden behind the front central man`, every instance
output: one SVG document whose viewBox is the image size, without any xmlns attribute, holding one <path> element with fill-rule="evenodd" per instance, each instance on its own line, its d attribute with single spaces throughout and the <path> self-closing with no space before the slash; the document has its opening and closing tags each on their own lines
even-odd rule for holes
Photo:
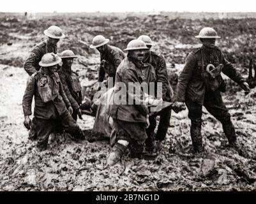
<svg viewBox="0 0 256 204">
<path fill-rule="evenodd" d="M 156 52 L 149 51 L 148 54 L 145 55 L 144 63 L 149 63 L 153 66 L 154 71 L 156 73 L 156 82 L 162 82 L 162 98 L 163 101 L 171 102 L 172 101 L 172 88 L 170 87 L 170 83 L 168 80 L 167 67 L 165 58 L 163 55 L 156 54 Z M 156 133 L 156 140 L 164 140 L 167 130 L 170 124 L 170 114 L 171 108 L 165 108 L 160 113 L 160 122 L 158 126 L 158 131 Z M 147 129 L 148 136 L 152 140 L 154 140 L 154 129 L 156 128 L 156 120 L 154 117 L 150 119 L 150 126 Z M 149 142 L 149 143 L 152 143 Z"/>
</svg>

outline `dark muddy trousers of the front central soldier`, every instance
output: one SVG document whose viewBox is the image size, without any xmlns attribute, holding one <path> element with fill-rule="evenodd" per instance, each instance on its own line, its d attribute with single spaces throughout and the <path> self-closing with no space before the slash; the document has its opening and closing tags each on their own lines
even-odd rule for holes
<svg viewBox="0 0 256 204">
<path fill-rule="evenodd" d="M 128 141 L 130 156 L 141 158 L 142 152 L 144 151 L 144 143 L 147 139 L 145 123 L 113 119 L 113 124 L 116 129 L 116 141 Z"/>
</svg>

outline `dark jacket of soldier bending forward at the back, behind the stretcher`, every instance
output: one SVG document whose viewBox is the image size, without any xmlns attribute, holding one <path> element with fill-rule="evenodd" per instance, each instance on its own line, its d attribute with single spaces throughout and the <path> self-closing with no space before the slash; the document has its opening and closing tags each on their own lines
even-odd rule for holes
<svg viewBox="0 0 256 204">
<path fill-rule="evenodd" d="M 98 82 L 103 82 L 105 73 L 115 80 L 116 69 L 125 57 L 124 52 L 121 49 L 110 45 L 106 46 L 107 50 L 100 54 L 101 64 L 98 73 Z"/>
</svg>

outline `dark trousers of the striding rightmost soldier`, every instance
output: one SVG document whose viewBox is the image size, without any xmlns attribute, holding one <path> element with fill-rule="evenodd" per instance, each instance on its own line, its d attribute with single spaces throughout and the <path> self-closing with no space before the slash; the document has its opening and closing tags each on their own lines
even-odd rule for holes
<svg viewBox="0 0 256 204">
<path fill-rule="evenodd" d="M 206 92 L 203 105 L 211 115 L 222 123 L 223 131 L 229 143 L 232 144 L 236 142 L 236 131 L 230 120 L 229 111 L 223 103 L 220 92 Z M 202 152 L 202 105 L 193 102 L 191 99 L 186 99 L 186 106 L 188 108 L 188 117 L 191 120 L 190 135 L 193 148 L 196 152 Z"/>
</svg>

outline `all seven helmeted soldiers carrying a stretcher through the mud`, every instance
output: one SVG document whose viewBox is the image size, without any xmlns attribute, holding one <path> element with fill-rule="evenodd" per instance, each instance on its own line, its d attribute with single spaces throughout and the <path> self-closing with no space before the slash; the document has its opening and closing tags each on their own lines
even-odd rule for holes
<svg viewBox="0 0 256 204">
<path fill-rule="evenodd" d="M 72 71 L 73 59 L 77 56 L 72 50 L 64 50 L 57 55 L 57 42 L 64 34 L 57 26 L 50 26 L 44 31 L 47 40 L 36 45 L 24 63 L 24 69 L 29 74 L 27 87 L 22 101 L 24 110 L 24 125 L 29 131 L 29 137 L 37 138 L 40 150 L 47 148 L 49 136 L 56 133 L 70 133 L 75 140 L 84 139 L 83 131 L 77 125 L 77 115 L 82 119 L 82 94 L 79 76 Z M 195 48 L 186 58 L 184 69 L 179 76 L 177 97 L 173 98 L 167 75 L 167 64 L 161 54 L 151 51 L 153 41 L 149 36 L 142 35 L 128 43 L 124 51 L 110 46 L 109 39 L 102 35 L 93 38 L 91 48 L 100 52 L 100 68 L 98 82 L 103 82 L 105 75 L 112 78 L 114 84 L 129 83 L 162 83 L 162 100 L 172 102 L 171 106 L 163 108 L 156 134 L 156 114 L 150 114 L 149 108 L 141 103 L 112 104 L 109 116 L 113 119 L 116 131 L 116 142 L 107 158 L 107 163 L 115 164 L 123 154 L 130 150 L 130 157 L 142 159 L 144 156 L 154 156 L 157 152 L 156 143 L 165 140 L 170 124 L 171 110 L 176 113 L 188 108 L 191 120 L 190 134 L 193 151 L 203 152 L 201 126 L 202 106 L 218 119 L 229 145 L 239 148 L 236 141 L 236 131 L 230 120 L 230 114 L 222 101 L 220 92 L 225 92 L 225 82 L 220 73 L 237 82 L 246 92 L 250 91 L 245 78 L 237 72 L 223 56 L 220 48 L 215 46 L 216 38 L 220 38 L 210 27 L 203 28 L 199 36 L 202 47 Z M 59 63 L 63 62 L 60 66 Z M 115 85 L 114 85 L 115 88 Z M 97 90 L 100 86 L 96 87 Z M 129 101 L 142 100 L 144 91 L 128 94 Z M 114 89 L 114 95 L 118 94 Z M 158 89 L 154 92 L 154 97 Z M 34 96 L 34 118 L 31 120 L 31 103 Z M 157 154 L 156 154 L 157 155 Z"/>
</svg>

